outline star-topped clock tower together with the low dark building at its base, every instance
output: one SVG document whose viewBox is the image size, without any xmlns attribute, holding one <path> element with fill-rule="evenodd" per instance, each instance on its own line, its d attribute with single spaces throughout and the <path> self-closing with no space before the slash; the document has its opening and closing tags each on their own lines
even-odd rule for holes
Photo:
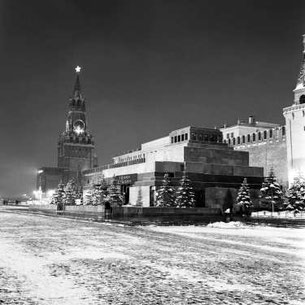
<svg viewBox="0 0 305 305">
<path fill-rule="evenodd" d="M 79 72 L 69 99 L 65 131 L 57 144 L 57 167 L 42 167 L 37 174 L 37 189 L 42 193 L 56 189 L 60 182 L 75 178 L 81 183 L 83 170 L 97 166 L 94 139 L 88 130 L 86 101 L 81 92 Z"/>
</svg>

